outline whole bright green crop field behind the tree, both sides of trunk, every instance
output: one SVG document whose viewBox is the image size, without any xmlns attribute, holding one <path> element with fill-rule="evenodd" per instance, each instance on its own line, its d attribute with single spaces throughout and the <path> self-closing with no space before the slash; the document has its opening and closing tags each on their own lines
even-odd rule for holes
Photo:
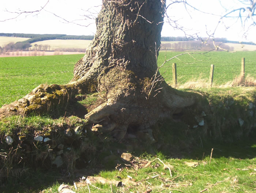
<svg viewBox="0 0 256 193">
<path fill-rule="evenodd" d="M 182 52 L 160 52 L 158 66 Z M 25 96 L 43 83 L 65 84 L 73 77 L 74 64 L 83 54 L 0 58 L 0 106 Z M 177 79 L 182 84 L 191 79 L 206 79 L 214 64 L 214 83 L 223 84 L 240 74 L 241 58 L 245 57 L 245 75 L 256 77 L 256 52 L 211 52 L 185 54 L 167 62 L 159 70 L 172 83 L 172 63 L 177 63 Z"/>
</svg>

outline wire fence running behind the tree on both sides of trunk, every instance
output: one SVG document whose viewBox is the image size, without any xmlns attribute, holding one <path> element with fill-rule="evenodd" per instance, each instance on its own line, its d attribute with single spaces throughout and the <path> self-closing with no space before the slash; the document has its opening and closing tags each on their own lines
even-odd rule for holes
<svg viewBox="0 0 256 193">
<path fill-rule="evenodd" d="M 73 69 L 74 64 L 0 68 L 0 107 L 22 98 L 40 84 L 68 83 L 73 77 Z M 183 84 L 198 79 L 207 80 L 210 84 L 223 84 L 241 79 L 241 75 L 244 78 L 250 74 L 255 78 L 256 62 L 246 61 L 246 68 L 243 58 L 242 61 L 229 61 L 228 64 L 226 61 L 177 62 L 167 64 L 159 71 L 170 84 Z"/>
</svg>

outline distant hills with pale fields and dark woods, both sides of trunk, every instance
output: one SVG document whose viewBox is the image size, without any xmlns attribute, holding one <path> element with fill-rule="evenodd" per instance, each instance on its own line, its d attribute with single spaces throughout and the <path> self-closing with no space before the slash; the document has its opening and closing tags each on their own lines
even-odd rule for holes
<svg viewBox="0 0 256 193">
<path fill-rule="evenodd" d="M 0 37 L 6 38 L 21 38 L 19 42 L 13 41 L 0 47 L 0 52 L 11 52 L 15 50 L 62 50 L 62 51 L 79 51 L 84 52 L 90 41 L 94 38 L 93 35 L 66 35 L 66 34 L 23 34 L 23 33 L 0 33 Z M 24 39 L 23 39 L 24 38 Z M 204 39 L 204 38 L 203 38 Z M 64 40 L 69 40 L 64 41 Z M 73 42 L 71 41 L 73 40 Z M 79 42 L 79 40 L 83 40 Z M 222 48 L 226 50 L 243 50 L 235 44 L 247 45 L 248 50 L 255 50 L 256 45 L 253 42 L 238 42 L 229 41 L 227 38 L 214 38 L 215 43 L 222 44 Z M 161 49 L 167 50 L 209 50 L 215 49 L 212 41 L 209 45 L 202 45 L 201 41 L 195 41 L 186 37 L 161 37 Z M 82 45 L 81 45 L 82 44 Z M 2 45 L 3 46 L 3 45 Z M 241 47 L 241 46 L 240 46 Z M 2 51 L 1 51 L 2 50 Z"/>
</svg>

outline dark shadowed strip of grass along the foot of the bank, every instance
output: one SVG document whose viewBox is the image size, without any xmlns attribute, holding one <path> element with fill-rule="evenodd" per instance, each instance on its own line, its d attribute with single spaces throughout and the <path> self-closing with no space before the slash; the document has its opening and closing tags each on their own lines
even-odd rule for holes
<svg viewBox="0 0 256 193">
<path fill-rule="evenodd" d="M 194 144 L 193 147 L 184 145 L 185 142 L 180 143 L 180 147 L 177 146 L 165 146 L 165 148 L 160 147 L 156 143 L 154 145 L 138 145 L 138 150 L 134 150 L 131 152 L 134 156 L 143 157 L 142 159 L 147 159 L 145 155 L 149 155 L 149 157 L 157 158 L 156 152 L 161 152 L 161 154 L 166 158 L 173 159 L 193 159 L 193 160 L 203 160 L 207 156 L 210 156 L 212 148 L 212 158 L 217 159 L 221 157 L 225 158 L 236 158 L 236 159 L 252 159 L 256 157 L 256 141 L 255 135 L 251 135 L 250 138 L 244 141 L 236 141 L 234 143 L 220 143 L 220 142 L 212 142 L 212 141 L 200 141 L 198 144 Z M 0 185 L 1 192 L 4 193 L 13 193 L 13 192 L 26 192 L 26 193 L 35 193 L 41 192 L 44 189 L 48 189 L 52 187 L 49 192 L 58 192 L 57 188 L 61 183 L 69 183 L 73 185 L 73 181 L 79 181 L 79 178 L 82 176 L 89 175 L 97 175 L 100 171 L 103 170 L 115 170 L 116 163 L 108 162 L 104 163 L 104 157 L 112 155 L 110 152 L 114 154 L 120 150 L 120 148 L 127 147 L 128 144 L 124 143 L 112 143 L 110 145 L 106 145 L 108 148 L 106 151 L 101 152 L 97 156 L 97 162 L 92 164 L 87 164 L 86 167 L 79 166 L 79 169 L 74 171 L 74 174 L 67 176 L 63 174 L 65 172 L 64 169 L 56 169 L 52 171 L 44 171 L 42 169 L 31 170 L 31 172 L 27 173 L 22 178 L 9 178 L 4 184 Z M 158 148 L 157 148 L 158 147 Z M 143 148 L 145 148 L 143 150 Z M 168 148 L 168 150 L 167 150 Z M 160 150 L 162 149 L 162 151 Z M 95 160 L 94 160 L 95 161 Z"/>
</svg>

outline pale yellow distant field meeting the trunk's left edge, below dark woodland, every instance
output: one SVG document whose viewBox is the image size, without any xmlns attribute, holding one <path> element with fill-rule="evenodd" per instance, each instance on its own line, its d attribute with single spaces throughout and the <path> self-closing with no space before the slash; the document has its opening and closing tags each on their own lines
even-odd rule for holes
<svg viewBox="0 0 256 193">
<path fill-rule="evenodd" d="M 53 40 L 45 40 L 41 42 L 31 43 L 32 46 L 37 45 L 50 45 L 50 50 L 58 49 L 58 48 L 82 48 L 86 49 L 91 40 L 83 40 L 83 39 L 53 39 Z"/>
</svg>

